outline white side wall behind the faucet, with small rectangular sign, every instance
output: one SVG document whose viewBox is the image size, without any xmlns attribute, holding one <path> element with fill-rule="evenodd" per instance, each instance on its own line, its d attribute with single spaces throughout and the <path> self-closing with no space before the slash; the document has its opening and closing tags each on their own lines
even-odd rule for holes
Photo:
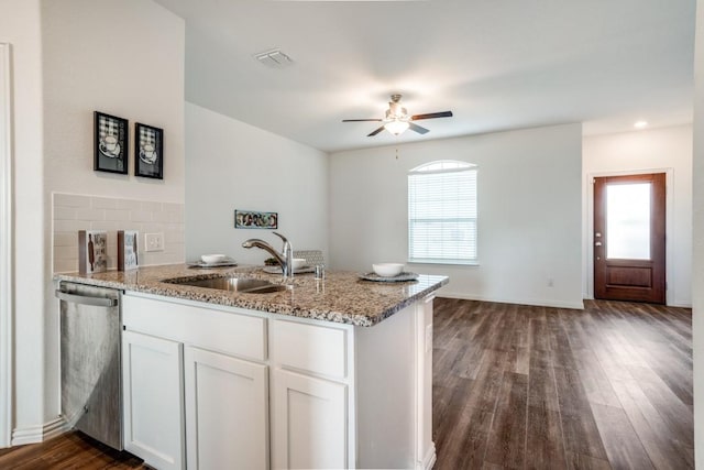
<svg viewBox="0 0 704 470">
<path fill-rule="evenodd" d="M 262 264 L 270 255 L 243 249 L 270 230 L 234 229 L 234 209 L 278 212 L 278 231 L 294 250 L 328 252 L 328 157 L 324 152 L 186 103 L 186 256 L 226 253 Z"/>
</svg>

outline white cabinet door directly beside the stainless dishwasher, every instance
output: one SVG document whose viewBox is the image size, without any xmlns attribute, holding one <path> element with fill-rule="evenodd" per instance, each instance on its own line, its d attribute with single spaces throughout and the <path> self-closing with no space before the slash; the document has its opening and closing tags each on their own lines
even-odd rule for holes
<svg viewBox="0 0 704 470">
<path fill-rule="evenodd" d="M 160 470 L 184 468 L 182 345 L 122 334 L 124 448 Z"/>
</svg>

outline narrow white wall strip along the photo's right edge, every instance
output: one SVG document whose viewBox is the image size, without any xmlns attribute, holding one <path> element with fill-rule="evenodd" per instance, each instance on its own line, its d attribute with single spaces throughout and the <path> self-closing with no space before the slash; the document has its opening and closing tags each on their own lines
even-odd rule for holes
<svg viewBox="0 0 704 470">
<path fill-rule="evenodd" d="M 694 260 L 692 323 L 694 346 L 694 457 L 704 468 L 704 0 L 696 2 L 694 48 Z"/>
</svg>

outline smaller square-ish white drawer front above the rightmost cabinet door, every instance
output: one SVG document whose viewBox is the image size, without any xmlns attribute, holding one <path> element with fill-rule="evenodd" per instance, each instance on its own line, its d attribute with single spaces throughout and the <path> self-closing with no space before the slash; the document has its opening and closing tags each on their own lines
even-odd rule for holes
<svg viewBox="0 0 704 470">
<path fill-rule="evenodd" d="M 349 331 L 344 328 L 273 320 L 274 361 L 333 379 L 348 376 Z"/>
</svg>

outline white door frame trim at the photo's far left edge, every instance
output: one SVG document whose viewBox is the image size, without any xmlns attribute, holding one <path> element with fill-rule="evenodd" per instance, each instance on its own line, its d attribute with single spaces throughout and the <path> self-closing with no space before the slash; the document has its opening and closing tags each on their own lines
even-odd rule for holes
<svg viewBox="0 0 704 470">
<path fill-rule="evenodd" d="M 0 448 L 12 438 L 13 225 L 12 225 L 12 73 L 10 44 L 0 43 Z M 3 109 L 4 108 L 4 109 Z"/>
</svg>

